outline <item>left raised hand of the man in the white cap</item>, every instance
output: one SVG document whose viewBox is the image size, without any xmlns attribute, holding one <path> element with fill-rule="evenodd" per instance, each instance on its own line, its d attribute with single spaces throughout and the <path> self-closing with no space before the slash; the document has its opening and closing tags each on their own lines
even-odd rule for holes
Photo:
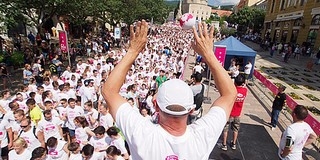
<svg viewBox="0 0 320 160">
<path fill-rule="evenodd" d="M 145 20 L 139 21 L 134 32 L 133 25 L 130 25 L 130 46 L 129 51 L 140 53 L 147 44 L 148 23 Z"/>
</svg>

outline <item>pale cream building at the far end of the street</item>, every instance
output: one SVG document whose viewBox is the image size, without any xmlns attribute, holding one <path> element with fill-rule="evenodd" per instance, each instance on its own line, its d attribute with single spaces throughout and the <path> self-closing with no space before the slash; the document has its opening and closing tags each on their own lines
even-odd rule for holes
<svg viewBox="0 0 320 160">
<path fill-rule="evenodd" d="M 197 20 L 206 20 L 211 15 L 211 7 L 207 0 L 183 0 L 182 14 L 191 13 Z"/>
</svg>

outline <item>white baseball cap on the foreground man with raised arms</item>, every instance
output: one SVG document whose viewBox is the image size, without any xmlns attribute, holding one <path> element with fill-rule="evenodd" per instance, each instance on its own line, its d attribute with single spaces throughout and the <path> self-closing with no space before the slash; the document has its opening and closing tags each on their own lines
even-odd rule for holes
<svg viewBox="0 0 320 160">
<path fill-rule="evenodd" d="M 164 82 L 158 89 L 157 103 L 161 111 L 175 116 L 188 114 L 196 106 L 193 104 L 191 88 L 180 79 L 172 79 Z M 181 106 L 180 111 L 173 111 L 168 106 Z"/>
</svg>

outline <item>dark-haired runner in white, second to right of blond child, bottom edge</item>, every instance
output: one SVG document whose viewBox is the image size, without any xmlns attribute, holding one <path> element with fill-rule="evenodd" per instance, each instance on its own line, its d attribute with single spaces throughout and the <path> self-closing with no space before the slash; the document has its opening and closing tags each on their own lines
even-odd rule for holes
<svg viewBox="0 0 320 160">
<path fill-rule="evenodd" d="M 50 137 L 47 140 L 48 157 L 51 159 L 68 159 L 68 144 L 66 141 L 59 140 L 56 137 Z"/>
</svg>

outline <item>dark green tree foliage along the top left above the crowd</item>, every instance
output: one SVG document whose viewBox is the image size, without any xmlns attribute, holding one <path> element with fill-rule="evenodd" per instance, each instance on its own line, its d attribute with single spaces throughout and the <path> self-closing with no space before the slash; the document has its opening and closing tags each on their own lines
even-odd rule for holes
<svg viewBox="0 0 320 160">
<path fill-rule="evenodd" d="M 40 29 L 46 20 L 64 15 L 75 25 L 93 20 L 115 25 L 139 19 L 161 23 L 169 13 L 164 0 L 2 0 L 0 20 L 7 26 L 23 22 Z"/>
</svg>

